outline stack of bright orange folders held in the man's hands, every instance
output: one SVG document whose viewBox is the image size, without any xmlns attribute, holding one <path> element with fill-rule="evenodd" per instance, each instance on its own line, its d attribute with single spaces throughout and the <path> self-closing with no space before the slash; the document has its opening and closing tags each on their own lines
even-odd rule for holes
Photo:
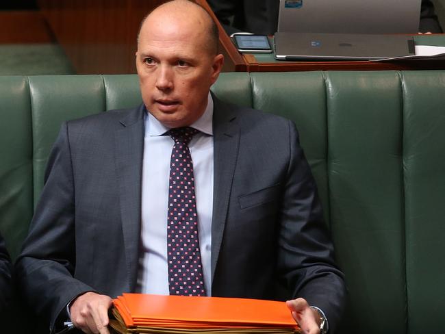
<svg viewBox="0 0 445 334">
<path fill-rule="evenodd" d="M 118 333 L 296 333 L 284 302 L 244 298 L 123 294 L 110 320 Z"/>
</svg>

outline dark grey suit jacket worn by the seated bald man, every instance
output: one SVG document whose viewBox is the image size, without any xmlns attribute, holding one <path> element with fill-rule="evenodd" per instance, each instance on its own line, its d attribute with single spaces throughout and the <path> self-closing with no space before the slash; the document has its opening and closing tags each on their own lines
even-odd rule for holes
<svg viewBox="0 0 445 334">
<path fill-rule="evenodd" d="M 51 324 L 87 291 L 133 292 L 144 107 L 62 125 L 17 276 Z M 307 298 L 335 328 L 342 273 L 294 124 L 214 99 L 212 294 Z"/>
</svg>

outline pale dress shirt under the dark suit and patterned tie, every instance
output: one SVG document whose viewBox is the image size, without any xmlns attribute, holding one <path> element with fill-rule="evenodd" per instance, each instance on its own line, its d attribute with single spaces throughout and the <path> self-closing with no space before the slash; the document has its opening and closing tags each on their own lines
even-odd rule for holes
<svg viewBox="0 0 445 334">
<path fill-rule="evenodd" d="M 199 248 L 207 296 L 211 296 L 210 252 L 213 213 L 213 100 L 209 94 L 204 114 L 190 125 L 199 133 L 190 141 L 194 170 Z M 169 294 L 167 264 L 168 177 L 173 139 L 168 127 L 153 115 L 144 118 L 144 159 L 142 162 L 142 222 L 136 292 Z"/>
</svg>

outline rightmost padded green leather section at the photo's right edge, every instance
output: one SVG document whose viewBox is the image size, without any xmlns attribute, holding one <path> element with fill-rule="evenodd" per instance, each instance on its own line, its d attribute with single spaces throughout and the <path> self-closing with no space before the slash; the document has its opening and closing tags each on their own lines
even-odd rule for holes
<svg viewBox="0 0 445 334">
<path fill-rule="evenodd" d="M 405 72 L 402 89 L 409 333 L 441 332 L 445 309 L 445 72 Z"/>
</svg>

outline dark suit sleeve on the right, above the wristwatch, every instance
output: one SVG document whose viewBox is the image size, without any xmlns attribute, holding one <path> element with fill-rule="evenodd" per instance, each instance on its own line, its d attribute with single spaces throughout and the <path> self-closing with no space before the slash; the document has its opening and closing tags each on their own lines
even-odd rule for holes
<svg viewBox="0 0 445 334">
<path fill-rule="evenodd" d="M 343 313 L 346 289 L 342 272 L 335 266 L 316 184 L 298 141 L 294 123 L 289 121 L 290 162 L 281 210 L 279 271 L 294 298 L 325 312 L 330 333 Z"/>
</svg>

